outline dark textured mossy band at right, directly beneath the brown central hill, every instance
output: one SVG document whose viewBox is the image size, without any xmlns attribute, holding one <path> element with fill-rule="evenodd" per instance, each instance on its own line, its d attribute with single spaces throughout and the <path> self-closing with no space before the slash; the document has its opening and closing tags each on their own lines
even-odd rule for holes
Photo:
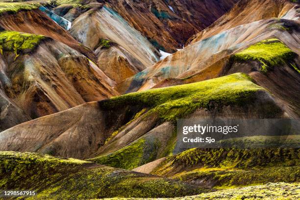
<svg viewBox="0 0 300 200">
<path fill-rule="evenodd" d="M 300 165 L 300 149 L 190 149 L 169 157 L 165 167 L 193 166 L 203 167 L 230 167 L 236 169 L 259 169 L 260 167 L 280 167 Z M 161 169 L 158 174 L 164 172 Z M 162 168 L 163 167 L 163 168 Z M 167 168 L 165 168 L 167 170 Z M 160 171 L 160 173 L 159 173 Z"/>
</svg>

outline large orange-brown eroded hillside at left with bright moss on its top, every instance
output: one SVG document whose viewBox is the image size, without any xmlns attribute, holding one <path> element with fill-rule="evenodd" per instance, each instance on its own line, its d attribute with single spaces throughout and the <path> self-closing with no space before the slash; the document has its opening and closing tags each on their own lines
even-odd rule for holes
<svg viewBox="0 0 300 200">
<path fill-rule="evenodd" d="M 3 94 L 32 119 L 118 95 L 92 61 L 45 36 L 2 31 L 0 52 Z"/>
</svg>

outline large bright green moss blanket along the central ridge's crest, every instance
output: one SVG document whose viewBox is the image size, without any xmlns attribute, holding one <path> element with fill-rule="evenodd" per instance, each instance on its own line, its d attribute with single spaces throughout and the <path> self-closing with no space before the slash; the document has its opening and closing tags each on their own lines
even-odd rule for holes
<svg viewBox="0 0 300 200">
<path fill-rule="evenodd" d="M 237 73 L 197 83 L 130 93 L 100 104 L 107 109 L 117 109 L 128 104 L 150 107 L 149 115 L 156 114 L 163 120 L 175 121 L 197 108 L 208 108 L 210 101 L 221 106 L 243 106 L 254 100 L 258 90 L 264 89 L 251 82 L 248 75 Z"/>
</svg>

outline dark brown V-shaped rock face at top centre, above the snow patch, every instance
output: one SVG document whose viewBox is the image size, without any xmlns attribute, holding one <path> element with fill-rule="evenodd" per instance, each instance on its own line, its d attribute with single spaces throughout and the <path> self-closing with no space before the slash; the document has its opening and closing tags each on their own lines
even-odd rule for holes
<svg viewBox="0 0 300 200">
<path fill-rule="evenodd" d="M 152 44 L 167 52 L 180 49 L 238 0 L 105 0 Z"/>
</svg>

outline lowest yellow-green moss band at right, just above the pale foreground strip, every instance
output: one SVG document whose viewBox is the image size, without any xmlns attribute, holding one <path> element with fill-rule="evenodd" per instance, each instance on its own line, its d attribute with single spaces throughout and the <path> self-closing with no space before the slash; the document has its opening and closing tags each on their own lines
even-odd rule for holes
<svg viewBox="0 0 300 200">
<path fill-rule="evenodd" d="M 176 174 L 172 178 L 186 182 L 201 180 L 202 184 L 225 189 L 268 182 L 300 182 L 299 175 L 300 167 L 270 167 L 258 170 L 201 168 Z"/>
</svg>

